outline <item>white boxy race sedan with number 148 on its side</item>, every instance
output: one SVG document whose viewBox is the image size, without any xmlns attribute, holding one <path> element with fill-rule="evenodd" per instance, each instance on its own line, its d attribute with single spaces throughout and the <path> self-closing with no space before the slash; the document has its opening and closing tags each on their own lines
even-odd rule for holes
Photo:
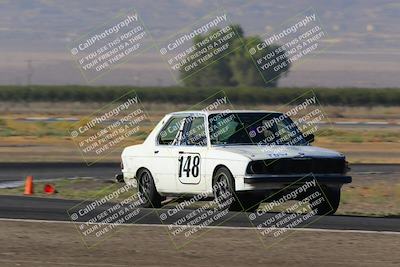
<svg viewBox="0 0 400 267">
<path fill-rule="evenodd" d="M 333 214 L 342 185 L 351 182 L 349 168 L 343 154 L 313 141 L 279 112 L 174 112 L 143 144 L 123 150 L 117 180 L 137 184 L 144 207 L 161 207 L 170 196 L 218 199 L 230 192 L 229 210 L 249 211 L 314 179 L 328 199 L 317 213 Z"/>
</svg>

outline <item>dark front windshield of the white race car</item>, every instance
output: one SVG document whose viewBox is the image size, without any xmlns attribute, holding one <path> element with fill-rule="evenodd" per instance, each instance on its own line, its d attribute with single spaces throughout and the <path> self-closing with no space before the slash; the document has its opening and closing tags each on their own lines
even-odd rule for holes
<svg viewBox="0 0 400 267">
<path fill-rule="evenodd" d="M 212 145 L 306 145 L 296 124 L 282 113 L 216 113 L 208 117 Z"/>
</svg>

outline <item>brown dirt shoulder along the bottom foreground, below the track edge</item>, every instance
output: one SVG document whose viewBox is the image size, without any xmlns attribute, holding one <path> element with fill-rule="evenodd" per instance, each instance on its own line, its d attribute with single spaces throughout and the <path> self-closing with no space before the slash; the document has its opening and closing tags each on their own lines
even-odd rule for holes
<svg viewBox="0 0 400 267">
<path fill-rule="evenodd" d="M 254 230 L 212 229 L 176 250 L 165 228 L 123 226 L 86 248 L 70 223 L 0 221 L 1 266 L 398 266 L 399 235 L 297 231 L 267 249 Z M 329 249 L 326 249 L 329 248 Z"/>
</svg>

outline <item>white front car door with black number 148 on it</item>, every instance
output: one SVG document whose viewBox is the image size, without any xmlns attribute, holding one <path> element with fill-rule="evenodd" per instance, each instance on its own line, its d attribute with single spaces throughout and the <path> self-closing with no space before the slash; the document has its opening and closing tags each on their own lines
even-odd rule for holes
<svg viewBox="0 0 400 267">
<path fill-rule="evenodd" d="M 204 115 L 185 119 L 176 154 L 176 181 L 179 193 L 200 193 L 206 189 L 204 159 L 208 151 Z"/>
</svg>

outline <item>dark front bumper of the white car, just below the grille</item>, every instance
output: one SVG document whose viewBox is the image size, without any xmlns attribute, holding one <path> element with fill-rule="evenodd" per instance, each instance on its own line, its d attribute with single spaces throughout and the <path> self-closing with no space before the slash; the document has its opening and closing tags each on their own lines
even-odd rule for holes
<svg viewBox="0 0 400 267">
<path fill-rule="evenodd" d="M 303 183 L 316 180 L 320 184 L 347 184 L 351 183 L 352 178 L 341 174 L 306 174 L 306 175 L 266 175 L 253 174 L 245 175 L 245 184 L 272 183 L 272 184 L 291 184 L 295 182 Z"/>
</svg>

